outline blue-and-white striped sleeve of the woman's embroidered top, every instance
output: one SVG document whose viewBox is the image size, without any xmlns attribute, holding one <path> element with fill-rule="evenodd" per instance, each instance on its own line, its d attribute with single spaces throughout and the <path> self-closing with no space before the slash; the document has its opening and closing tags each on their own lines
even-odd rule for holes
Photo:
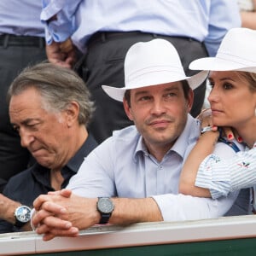
<svg viewBox="0 0 256 256">
<path fill-rule="evenodd" d="M 210 154 L 199 167 L 195 185 L 210 189 L 213 199 L 256 184 L 256 142 L 250 150 L 238 152 L 236 157 L 223 160 Z"/>
</svg>

